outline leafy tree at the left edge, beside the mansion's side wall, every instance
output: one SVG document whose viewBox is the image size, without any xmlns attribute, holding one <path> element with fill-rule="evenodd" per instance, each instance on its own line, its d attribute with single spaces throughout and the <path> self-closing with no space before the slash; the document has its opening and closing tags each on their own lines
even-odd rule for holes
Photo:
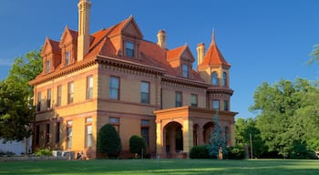
<svg viewBox="0 0 319 175">
<path fill-rule="evenodd" d="M 0 138 L 22 140 L 32 134 L 33 88 L 28 82 L 42 71 L 40 50 L 15 58 L 8 77 L 0 82 Z"/>
</svg>

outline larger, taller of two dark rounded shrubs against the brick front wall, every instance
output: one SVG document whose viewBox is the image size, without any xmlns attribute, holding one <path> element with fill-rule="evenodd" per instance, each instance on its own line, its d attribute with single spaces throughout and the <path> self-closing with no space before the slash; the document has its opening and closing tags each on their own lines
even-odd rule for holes
<svg viewBox="0 0 319 175">
<path fill-rule="evenodd" d="M 108 154 L 108 158 L 118 157 L 122 150 L 118 131 L 111 124 L 104 125 L 98 131 L 98 152 Z"/>
</svg>

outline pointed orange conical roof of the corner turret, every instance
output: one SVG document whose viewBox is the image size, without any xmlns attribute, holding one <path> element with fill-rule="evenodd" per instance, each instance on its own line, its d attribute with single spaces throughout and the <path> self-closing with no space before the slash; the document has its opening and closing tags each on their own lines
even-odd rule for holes
<svg viewBox="0 0 319 175">
<path fill-rule="evenodd" d="M 211 45 L 208 48 L 203 61 L 198 67 L 201 68 L 201 67 L 207 67 L 207 66 L 213 66 L 213 65 L 231 67 L 231 64 L 229 64 L 226 61 L 226 59 L 222 56 L 220 49 L 216 45 L 214 33 L 211 36 Z"/>
</svg>

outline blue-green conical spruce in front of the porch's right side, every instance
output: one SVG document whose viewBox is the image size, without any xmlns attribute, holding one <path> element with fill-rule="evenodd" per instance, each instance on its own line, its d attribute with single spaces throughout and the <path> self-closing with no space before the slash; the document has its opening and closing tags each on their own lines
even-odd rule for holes
<svg viewBox="0 0 319 175">
<path fill-rule="evenodd" d="M 213 117 L 214 128 L 211 131 L 210 144 L 208 145 L 208 150 L 211 157 L 219 157 L 219 150 L 221 148 L 222 154 L 227 154 L 226 149 L 226 138 L 222 137 L 222 130 L 220 126 L 220 115 L 218 110 Z"/>
</svg>

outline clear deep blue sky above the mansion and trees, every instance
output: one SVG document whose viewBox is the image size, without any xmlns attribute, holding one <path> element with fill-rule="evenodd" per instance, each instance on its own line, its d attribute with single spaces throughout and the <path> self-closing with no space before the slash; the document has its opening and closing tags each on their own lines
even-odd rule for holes
<svg viewBox="0 0 319 175">
<path fill-rule="evenodd" d="M 15 57 L 60 40 L 68 26 L 77 30 L 77 0 L 0 0 L 0 80 Z M 165 29 L 168 48 L 211 43 L 212 30 L 223 57 L 232 65 L 231 101 L 236 118 L 254 118 L 253 93 L 296 77 L 318 80 L 307 61 L 319 44 L 318 0 L 91 0 L 90 33 L 133 15 L 144 39 L 157 42 Z M 196 68 L 197 61 L 193 67 Z"/>
</svg>

